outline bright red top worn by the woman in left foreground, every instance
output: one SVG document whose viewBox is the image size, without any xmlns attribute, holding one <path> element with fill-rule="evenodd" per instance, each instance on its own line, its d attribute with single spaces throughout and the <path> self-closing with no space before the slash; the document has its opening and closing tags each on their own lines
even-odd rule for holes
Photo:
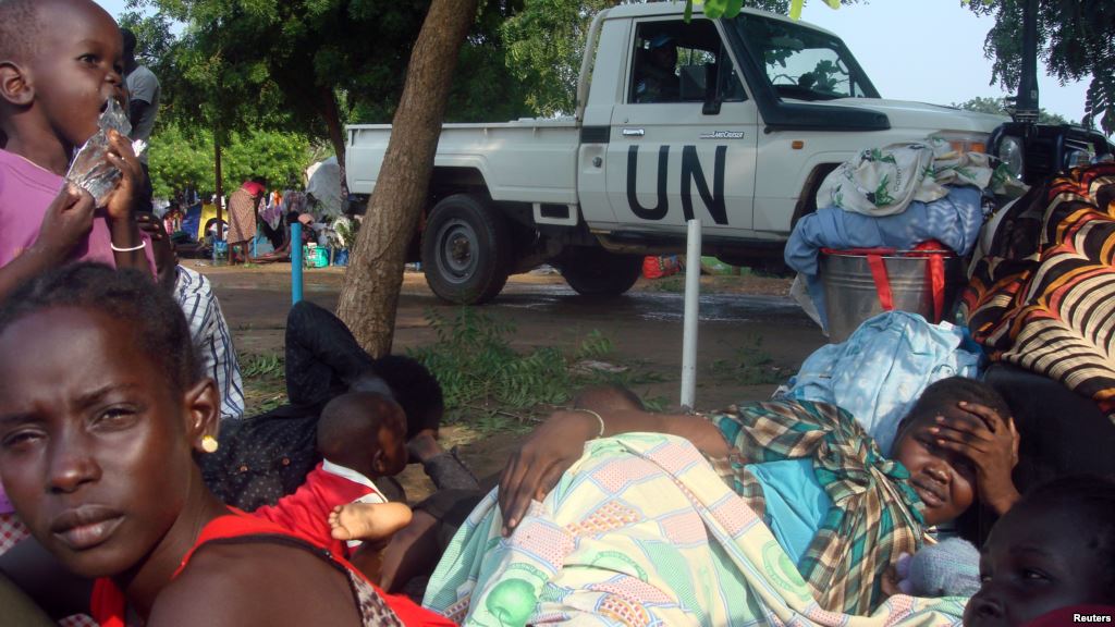
<svg viewBox="0 0 1115 627">
<path fill-rule="evenodd" d="M 171 577 L 172 580 L 182 573 L 182 571 L 190 563 L 190 558 L 194 556 L 194 552 L 197 551 L 197 549 L 206 542 L 213 540 L 264 534 L 285 536 L 288 538 L 294 538 L 311 544 L 313 543 L 312 540 L 301 533 L 289 531 L 265 520 L 252 518 L 251 515 L 233 508 L 230 508 L 230 510 L 231 513 L 229 515 L 216 518 L 202 529 L 201 534 L 197 537 L 197 542 L 194 543 L 193 548 L 191 548 L 186 556 L 182 559 L 182 565 Z M 384 592 L 379 589 L 379 586 L 368 581 L 368 578 L 345 558 L 332 554 L 330 556 L 330 559 L 346 567 L 360 579 L 367 581 L 376 590 L 376 594 L 384 599 L 387 606 L 391 608 L 404 625 L 428 627 L 452 627 L 455 625 L 448 618 L 418 606 L 406 596 L 388 595 Z M 100 627 L 125 627 L 124 617 L 126 601 L 124 594 L 116 587 L 116 583 L 114 583 L 112 579 L 101 577 L 96 580 L 93 587 L 93 598 L 90 599 L 89 605 L 89 614 L 93 616 L 94 620 L 100 624 Z"/>
</svg>

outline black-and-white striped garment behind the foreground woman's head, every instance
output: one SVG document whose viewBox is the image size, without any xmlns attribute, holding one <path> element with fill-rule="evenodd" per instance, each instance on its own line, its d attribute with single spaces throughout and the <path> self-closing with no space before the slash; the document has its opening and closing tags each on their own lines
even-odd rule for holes
<svg viewBox="0 0 1115 627">
<path fill-rule="evenodd" d="M 221 394 L 221 418 L 243 417 L 244 383 L 240 376 L 240 363 L 212 283 L 204 276 L 178 266 L 174 299 L 190 324 L 190 336 L 205 376 L 216 382 Z"/>
</svg>

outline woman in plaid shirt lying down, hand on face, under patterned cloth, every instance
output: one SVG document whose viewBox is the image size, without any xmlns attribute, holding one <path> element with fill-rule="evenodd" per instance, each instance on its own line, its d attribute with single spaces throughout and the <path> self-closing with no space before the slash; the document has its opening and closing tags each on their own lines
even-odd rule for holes
<svg viewBox="0 0 1115 627">
<path fill-rule="evenodd" d="M 886 571 L 977 496 L 1009 509 L 1017 447 L 1005 402 L 972 379 L 928 387 L 893 459 L 832 405 L 753 403 L 702 418 L 594 390 L 512 456 L 424 605 L 477 625 L 603 608 L 671 625 L 772 614 L 898 624 L 920 606 L 883 605 Z M 924 611 L 949 624 L 961 601 Z"/>
</svg>

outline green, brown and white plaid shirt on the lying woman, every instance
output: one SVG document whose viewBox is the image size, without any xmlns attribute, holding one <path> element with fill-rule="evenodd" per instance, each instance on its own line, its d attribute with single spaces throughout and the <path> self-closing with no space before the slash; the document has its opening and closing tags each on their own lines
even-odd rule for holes
<svg viewBox="0 0 1115 627">
<path fill-rule="evenodd" d="M 888 460 L 851 414 L 825 403 L 778 401 L 708 414 L 733 446 L 714 467 L 757 513 L 766 512 L 758 480 L 745 464 L 812 459 L 833 501 L 798 570 L 821 607 L 866 615 L 882 602 L 886 568 L 923 539 L 923 507 L 910 473 Z"/>
</svg>

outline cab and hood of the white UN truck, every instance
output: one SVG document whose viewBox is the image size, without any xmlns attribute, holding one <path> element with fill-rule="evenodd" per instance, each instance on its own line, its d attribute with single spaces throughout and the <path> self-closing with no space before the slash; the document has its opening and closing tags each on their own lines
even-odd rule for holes
<svg viewBox="0 0 1115 627">
<path fill-rule="evenodd" d="M 614 242 L 680 235 L 700 218 L 715 253 L 780 255 L 816 185 L 857 152 L 934 134 L 979 147 L 1006 122 L 884 100 L 838 37 L 782 16 L 686 22 L 646 9 L 603 18 L 599 50 L 624 54 L 598 52 L 583 114 L 608 141 L 582 144 L 581 208 Z M 663 48 L 676 50 L 677 81 L 648 97 L 643 76 Z M 597 151 L 599 171 L 583 167 Z M 607 202 L 586 202 L 592 193 Z"/>
</svg>

